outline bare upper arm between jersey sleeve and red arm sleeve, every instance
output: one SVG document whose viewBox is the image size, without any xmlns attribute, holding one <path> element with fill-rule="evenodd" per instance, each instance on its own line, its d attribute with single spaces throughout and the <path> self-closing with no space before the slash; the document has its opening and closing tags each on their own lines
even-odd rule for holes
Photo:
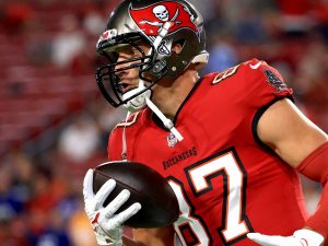
<svg viewBox="0 0 328 246">
<path fill-rule="evenodd" d="M 271 105 L 257 125 L 259 139 L 292 166 L 300 164 L 328 137 L 290 101 Z"/>
</svg>

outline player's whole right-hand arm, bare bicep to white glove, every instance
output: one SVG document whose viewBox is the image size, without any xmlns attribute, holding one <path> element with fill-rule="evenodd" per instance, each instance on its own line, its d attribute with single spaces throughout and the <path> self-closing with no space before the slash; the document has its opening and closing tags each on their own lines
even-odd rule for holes
<svg viewBox="0 0 328 246">
<path fill-rule="evenodd" d="M 320 183 L 324 187 L 316 212 L 306 221 L 304 227 L 328 235 L 328 137 L 289 99 L 271 105 L 261 116 L 257 126 L 259 139 L 269 145 L 282 160 L 297 168 L 305 176 Z M 320 245 L 320 236 L 301 230 L 292 237 L 270 237 L 250 234 L 249 238 L 261 245 L 290 245 L 284 241 L 298 237 L 314 238 L 308 245 Z M 309 235 L 305 235 L 309 232 Z M 305 233 L 305 234 L 303 234 Z M 298 236 L 298 237 L 297 237 Z M 282 239 L 282 241 L 281 241 Z M 316 241 L 317 239 L 317 241 Z M 300 239 L 301 244 L 302 241 Z M 298 244 L 295 244 L 298 245 Z"/>
</svg>

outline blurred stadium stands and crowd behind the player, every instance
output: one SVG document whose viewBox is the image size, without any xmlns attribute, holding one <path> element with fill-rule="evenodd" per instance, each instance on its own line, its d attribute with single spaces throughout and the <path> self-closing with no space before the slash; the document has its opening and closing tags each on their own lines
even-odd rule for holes
<svg viewBox="0 0 328 246">
<path fill-rule="evenodd" d="M 82 178 L 106 161 L 125 113 L 97 91 L 95 44 L 117 0 L 0 0 L 0 244 L 93 246 Z M 327 0 L 192 0 L 210 63 L 254 57 L 280 70 L 328 130 Z M 320 187 L 302 177 L 309 212 Z"/>
</svg>

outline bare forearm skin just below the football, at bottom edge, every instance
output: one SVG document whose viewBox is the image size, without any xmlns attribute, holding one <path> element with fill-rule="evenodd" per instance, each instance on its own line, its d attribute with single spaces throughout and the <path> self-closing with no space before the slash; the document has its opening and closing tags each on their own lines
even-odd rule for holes
<svg viewBox="0 0 328 246">
<path fill-rule="evenodd" d="M 134 242 L 147 246 L 173 246 L 174 229 L 173 226 L 160 229 L 133 229 Z"/>
</svg>

